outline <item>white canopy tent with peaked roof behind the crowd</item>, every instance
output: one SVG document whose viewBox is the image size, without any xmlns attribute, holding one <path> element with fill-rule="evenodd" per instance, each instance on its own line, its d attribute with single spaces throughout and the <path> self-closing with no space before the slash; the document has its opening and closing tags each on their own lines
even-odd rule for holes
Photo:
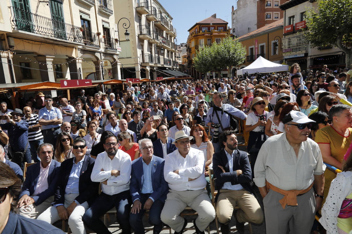
<svg viewBox="0 0 352 234">
<path fill-rule="evenodd" d="M 256 72 L 266 73 L 266 72 L 282 72 L 288 71 L 288 65 L 281 65 L 275 62 L 271 62 L 259 56 L 256 61 L 252 62 L 247 67 L 239 69 L 237 75 L 243 75 L 245 72 L 249 74 L 254 74 Z"/>
</svg>

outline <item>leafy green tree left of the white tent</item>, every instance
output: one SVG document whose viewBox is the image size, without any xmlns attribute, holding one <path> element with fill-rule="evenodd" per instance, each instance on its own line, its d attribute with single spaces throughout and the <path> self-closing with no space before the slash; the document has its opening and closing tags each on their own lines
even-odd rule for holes
<svg viewBox="0 0 352 234">
<path fill-rule="evenodd" d="M 245 56 L 246 48 L 242 43 L 227 35 L 219 44 L 213 42 L 211 46 L 205 45 L 196 51 L 193 61 L 198 72 L 216 71 L 220 77 L 226 67 L 242 64 Z"/>
</svg>

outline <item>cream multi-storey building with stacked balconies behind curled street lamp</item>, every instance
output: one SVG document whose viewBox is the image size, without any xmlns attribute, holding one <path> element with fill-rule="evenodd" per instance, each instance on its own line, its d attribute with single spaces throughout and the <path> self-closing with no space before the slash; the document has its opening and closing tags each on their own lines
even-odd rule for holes
<svg viewBox="0 0 352 234">
<path fill-rule="evenodd" d="M 156 80 L 167 76 L 163 69 L 178 68 L 176 29 L 172 26 L 171 15 L 157 0 L 122 1 L 114 5 L 114 12 L 119 15 L 115 24 L 121 38 L 121 75 L 124 79 Z M 126 28 L 130 33 L 128 41 L 122 40 Z"/>
</svg>

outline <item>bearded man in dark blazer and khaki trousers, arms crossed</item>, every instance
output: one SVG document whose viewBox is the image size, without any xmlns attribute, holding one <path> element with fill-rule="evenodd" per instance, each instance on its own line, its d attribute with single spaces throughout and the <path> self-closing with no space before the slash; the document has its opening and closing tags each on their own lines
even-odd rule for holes
<svg viewBox="0 0 352 234">
<path fill-rule="evenodd" d="M 213 156 L 214 175 L 216 176 L 216 214 L 221 224 L 221 233 L 229 233 L 228 223 L 233 208 L 236 228 L 244 233 L 244 223 L 260 224 L 263 212 L 250 186 L 252 170 L 247 153 L 237 149 L 237 138 L 234 131 L 224 131 L 219 136 L 223 149 Z"/>
</svg>

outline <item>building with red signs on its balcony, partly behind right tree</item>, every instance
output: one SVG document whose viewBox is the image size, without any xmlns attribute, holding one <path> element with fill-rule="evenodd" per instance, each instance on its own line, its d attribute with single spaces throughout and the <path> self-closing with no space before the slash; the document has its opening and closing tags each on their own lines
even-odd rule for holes
<svg viewBox="0 0 352 234">
<path fill-rule="evenodd" d="M 301 70 L 320 70 L 323 65 L 335 70 L 345 67 L 345 54 L 333 46 L 310 48 L 309 42 L 300 33 L 306 28 L 305 12 L 307 7 L 317 8 L 315 0 L 291 0 L 280 5 L 284 12 L 282 39 L 283 58 L 288 65 L 298 63 Z"/>
</svg>

